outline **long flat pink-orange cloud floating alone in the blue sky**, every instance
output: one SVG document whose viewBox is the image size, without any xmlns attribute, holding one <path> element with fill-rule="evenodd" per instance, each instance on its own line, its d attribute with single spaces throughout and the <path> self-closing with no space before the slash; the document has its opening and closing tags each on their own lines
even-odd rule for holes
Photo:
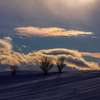
<svg viewBox="0 0 100 100">
<path fill-rule="evenodd" d="M 37 35 L 37 36 L 78 36 L 78 35 L 91 35 L 92 32 L 83 32 L 75 30 L 66 30 L 63 28 L 38 28 L 38 27 L 19 27 L 15 28 L 20 35 Z"/>
</svg>

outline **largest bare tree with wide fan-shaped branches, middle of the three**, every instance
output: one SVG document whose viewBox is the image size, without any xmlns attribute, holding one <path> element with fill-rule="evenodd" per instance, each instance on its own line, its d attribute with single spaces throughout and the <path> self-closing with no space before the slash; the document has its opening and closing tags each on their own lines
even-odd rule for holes
<svg viewBox="0 0 100 100">
<path fill-rule="evenodd" d="M 51 58 L 42 57 L 40 61 L 40 68 L 43 70 L 45 75 L 47 75 L 48 71 L 53 67 L 53 62 Z"/>
</svg>

